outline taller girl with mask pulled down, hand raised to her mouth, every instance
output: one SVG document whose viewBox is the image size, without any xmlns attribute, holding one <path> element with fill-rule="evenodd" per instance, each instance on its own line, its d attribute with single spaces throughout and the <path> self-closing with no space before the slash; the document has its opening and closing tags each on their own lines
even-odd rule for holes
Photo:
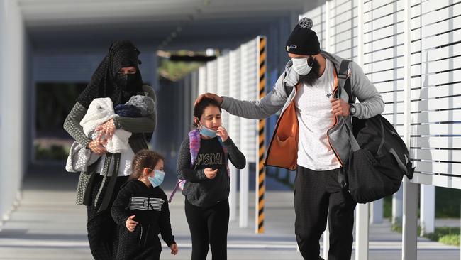
<svg viewBox="0 0 461 260">
<path fill-rule="evenodd" d="M 194 107 L 194 129 L 179 148 L 177 175 L 186 180 L 182 194 L 192 238 L 192 260 L 227 259 L 229 224 L 228 161 L 245 167 L 241 153 L 221 125 L 221 107 L 204 98 Z"/>
</svg>

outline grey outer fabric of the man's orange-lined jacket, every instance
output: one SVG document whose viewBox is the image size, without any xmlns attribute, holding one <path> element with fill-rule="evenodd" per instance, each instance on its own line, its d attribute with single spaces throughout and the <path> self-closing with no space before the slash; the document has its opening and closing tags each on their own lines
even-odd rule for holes
<svg viewBox="0 0 461 260">
<path fill-rule="evenodd" d="M 343 58 L 322 51 L 321 55 L 327 60 L 330 60 L 339 71 L 339 67 Z M 292 62 L 289 60 L 285 66 L 285 71 L 280 75 L 271 92 L 260 100 L 243 101 L 233 99 L 232 97 L 223 97 L 221 107 L 230 114 L 248 119 L 264 119 L 270 117 L 282 109 L 282 113 L 293 101 L 296 95 L 295 85 L 299 82 L 299 75 L 293 70 Z M 348 78 L 350 80 L 352 96 L 356 97 L 360 103 L 354 104 L 356 113 L 354 117 L 366 119 L 381 114 L 384 111 L 384 102 L 381 94 L 376 87 L 368 80 L 362 68 L 355 62 L 349 63 Z M 285 86 L 292 87 L 291 92 L 287 93 Z M 348 94 L 341 91 L 340 98 L 348 102 Z M 350 143 L 346 132 L 345 120 L 350 120 L 350 117 L 338 117 L 338 124 L 333 126 L 327 133 L 330 139 L 331 146 L 334 146 L 336 156 L 340 161 L 347 161 L 350 152 Z M 333 147 L 332 147 L 333 148 Z"/>
</svg>

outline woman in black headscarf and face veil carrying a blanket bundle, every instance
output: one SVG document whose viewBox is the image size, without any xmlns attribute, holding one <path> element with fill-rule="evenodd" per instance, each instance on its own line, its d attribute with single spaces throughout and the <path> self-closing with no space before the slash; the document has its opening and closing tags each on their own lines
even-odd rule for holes
<svg viewBox="0 0 461 260">
<path fill-rule="evenodd" d="M 82 147 L 101 155 L 99 161 L 80 173 L 77 185 L 77 205 L 87 205 L 87 232 L 91 254 L 94 259 L 115 259 L 118 226 L 111 217 L 111 207 L 121 185 L 126 183 L 131 170 L 131 159 L 142 149 L 147 149 L 145 136 L 155 130 L 157 99 L 152 87 L 143 85 L 138 68 L 140 51 L 129 40 L 111 44 L 109 52 L 101 61 L 91 80 L 72 111 L 64 128 Z M 114 117 L 96 127 L 99 138 L 92 140 L 84 134 L 79 122 L 87 113 L 89 104 L 97 98 L 110 97 L 115 108 L 125 104 L 134 95 L 151 97 L 153 113 L 144 117 Z M 124 129 L 132 133 L 129 148 L 122 153 L 108 153 L 104 144 L 116 131 Z M 104 139 L 100 137 L 104 136 Z"/>
</svg>

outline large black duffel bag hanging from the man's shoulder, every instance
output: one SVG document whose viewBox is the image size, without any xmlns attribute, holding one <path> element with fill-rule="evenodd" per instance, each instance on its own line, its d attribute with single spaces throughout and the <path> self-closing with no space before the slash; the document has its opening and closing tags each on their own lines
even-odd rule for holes
<svg viewBox="0 0 461 260">
<path fill-rule="evenodd" d="M 382 115 L 352 124 L 346 123 L 351 151 L 342 169 L 352 198 L 367 203 L 396 193 L 414 171 L 404 141 Z"/>
</svg>

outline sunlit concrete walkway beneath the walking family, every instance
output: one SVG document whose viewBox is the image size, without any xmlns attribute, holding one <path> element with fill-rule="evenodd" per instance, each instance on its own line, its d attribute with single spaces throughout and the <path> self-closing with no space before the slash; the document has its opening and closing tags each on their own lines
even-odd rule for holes
<svg viewBox="0 0 461 260">
<path fill-rule="evenodd" d="M 1 227 L 0 259 L 92 259 L 87 242 L 86 211 L 74 205 L 78 177 L 60 169 L 37 167 L 26 175 L 23 200 Z M 167 179 L 165 187 L 172 187 L 172 183 L 174 178 Z M 273 180 L 267 183 L 265 234 L 254 232 L 252 193 L 250 227 L 241 229 L 238 222 L 230 222 L 228 259 L 302 259 L 296 252 L 293 195 Z M 174 197 L 170 211 L 179 255 L 172 256 L 165 246 L 162 259 L 190 259 L 191 241 L 182 195 Z M 401 259 L 401 234 L 391 232 L 389 222 L 370 227 L 369 259 Z M 418 259 L 459 260 L 460 249 L 420 239 Z"/>
</svg>

